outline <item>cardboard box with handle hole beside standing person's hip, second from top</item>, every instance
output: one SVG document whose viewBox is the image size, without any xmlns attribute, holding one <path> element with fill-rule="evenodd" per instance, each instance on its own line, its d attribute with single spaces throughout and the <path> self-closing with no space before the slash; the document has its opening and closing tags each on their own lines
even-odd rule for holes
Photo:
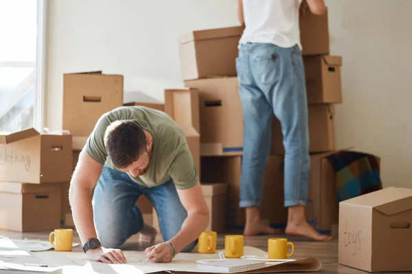
<svg viewBox="0 0 412 274">
<path fill-rule="evenodd" d="M 304 56 L 308 103 L 342 103 L 341 56 Z"/>
</svg>

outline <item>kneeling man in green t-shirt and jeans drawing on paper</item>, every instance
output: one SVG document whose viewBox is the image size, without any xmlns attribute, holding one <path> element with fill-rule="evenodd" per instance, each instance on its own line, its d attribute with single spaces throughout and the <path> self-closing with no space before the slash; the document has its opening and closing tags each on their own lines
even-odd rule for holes
<svg viewBox="0 0 412 274">
<path fill-rule="evenodd" d="M 152 262 L 192 251 L 209 223 L 183 131 L 168 114 L 150 108 L 116 108 L 99 119 L 80 153 L 69 193 L 89 260 L 126 262 L 119 247 L 133 234 L 153 244 L 157 232 L 144 224 L 135 205 L 140 195 L 155 208 L 165 240 L 146 249 Z"/>
</svg>

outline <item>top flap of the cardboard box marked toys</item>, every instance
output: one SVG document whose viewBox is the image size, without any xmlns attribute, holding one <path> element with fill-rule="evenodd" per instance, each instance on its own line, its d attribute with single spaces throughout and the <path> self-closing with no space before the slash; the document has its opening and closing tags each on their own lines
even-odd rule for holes
<svg viewBox="0 0 412 274">
<path fill-rule="evenodd" d="M 390 187 L 347 199 L 346 201 L 341 201 L 341 203 L 375 208 L 382 213 L 402 212 L 412 208 L 411 197 L 412 189 Z M 395 210 L 398 205 L 400 210 Z"/>
</svg>

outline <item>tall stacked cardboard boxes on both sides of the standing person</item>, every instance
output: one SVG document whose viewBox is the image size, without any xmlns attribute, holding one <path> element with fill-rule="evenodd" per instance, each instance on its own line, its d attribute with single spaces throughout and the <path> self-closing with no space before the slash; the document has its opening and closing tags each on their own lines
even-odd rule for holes
<svg viewBox="0 0 412 274">
<path fill-rule="evenodd" d="M 337 212 L 338 203 L 331 198 L 336 196 L 332 167 L 323 160 L 324 153 L 335 149 L 333 104 L 342 101 L 341 58 L 328 55 L 328 14 L 302 16 L 300 30 L 309 103 L 310 153 L 313 153 L 307 213 L 314 227 L 329 232 L 330 224 L 334 223 L 329 215 L 332 219 L 337 218 L 337 214 L 335 216 L 330 211 Z M 240 232 L 245 223 L 244 210 L 238 206 L 243 116 L 236 57 L 242 32 L 243 27 L 227 27 L 196 31 L 179 38 L 184 84 L 198 90 L 201 182 L 229 184 L 227 229 L 230 232 Z M 284 227 L 287 220 L 283 206 L 282 140 L 279 121 L 274 117 L 271 156 L 266 166 L 261 206 L 262 218 L 273 227 Z"/>
</svg>

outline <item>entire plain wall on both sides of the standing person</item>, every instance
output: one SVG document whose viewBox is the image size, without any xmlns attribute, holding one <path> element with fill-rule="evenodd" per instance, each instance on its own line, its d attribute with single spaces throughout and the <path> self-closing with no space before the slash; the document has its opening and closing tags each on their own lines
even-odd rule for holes
<svg viewBox="0 0 412 274">
<path fill-rule="evenodd" d="M 412 188 L 412 1 L 326 3 L 343 56 L 336 144 L 379 155 L 384 185 Z M 125 90 L 163 101 L 182 86 L 177 36 L 231 25 L 236 0 L 49 1 L 46 125 L 62 127 L 62 73 L 121 73 Z"/>
</svg>

